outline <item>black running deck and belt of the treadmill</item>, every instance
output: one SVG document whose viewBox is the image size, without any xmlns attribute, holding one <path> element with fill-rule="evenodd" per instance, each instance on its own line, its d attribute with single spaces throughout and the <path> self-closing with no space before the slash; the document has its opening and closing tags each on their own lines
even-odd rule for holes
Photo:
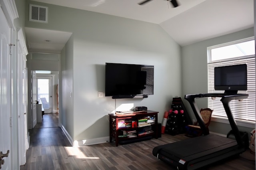
<svg viewBox="0 0 256 170">
<path fill-rule="evenodd" d="M 234 139 L 215 134 L 188 138 L 179 142 L 156 146 L 152 153 L 180 170 L 196 169 L 244 152 Z"/>
</svg>

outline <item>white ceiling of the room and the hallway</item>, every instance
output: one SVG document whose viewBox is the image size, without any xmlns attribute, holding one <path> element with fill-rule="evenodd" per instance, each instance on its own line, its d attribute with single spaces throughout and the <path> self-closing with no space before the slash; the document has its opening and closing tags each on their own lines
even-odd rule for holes
<svg viewBox="0 0 256 170">
<path fill-rule="evenodd" d="M 181 46 L 254 26 L 254 0 L 177 0 L 177 8 L 167 0 L 152 0 L 144 5 L 138 5 L 143 0 L 35 1 L 159 24 Z M 54 36 L 58 35 L 56 31 L 25 30 L 30 49 L 60 51 L 71 35 L 59 32 L 65 39 Z M 44 41 L 47 37 L 51 42 Z"/>
</svg>

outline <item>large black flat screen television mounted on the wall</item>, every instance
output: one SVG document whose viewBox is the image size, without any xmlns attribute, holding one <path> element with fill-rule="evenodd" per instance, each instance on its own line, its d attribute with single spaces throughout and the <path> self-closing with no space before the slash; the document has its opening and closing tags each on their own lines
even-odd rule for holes
<svg viewBox="0 0 256 170">
<path fill-rule="evenodd" d="M 154 94 L 154 65 L 106 63 L 105 96 L 145 98 Z"/>
</svg>

